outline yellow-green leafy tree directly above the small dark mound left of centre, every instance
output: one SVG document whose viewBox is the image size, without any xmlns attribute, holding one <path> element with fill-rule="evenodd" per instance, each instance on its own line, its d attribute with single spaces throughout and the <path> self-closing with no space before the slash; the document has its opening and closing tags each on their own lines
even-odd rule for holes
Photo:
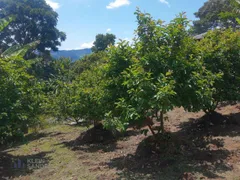
<svg viewBox="0 0 240 180">
<path fill-rule="evenodd" d="M 106 102 L 104 64 L 94 66 L 84 71 L 76 81 L 75 103 L 71 109 L 76 110 L 79 116 L 88 124 L 97 125 L 104 119 Z"/>
</svg>

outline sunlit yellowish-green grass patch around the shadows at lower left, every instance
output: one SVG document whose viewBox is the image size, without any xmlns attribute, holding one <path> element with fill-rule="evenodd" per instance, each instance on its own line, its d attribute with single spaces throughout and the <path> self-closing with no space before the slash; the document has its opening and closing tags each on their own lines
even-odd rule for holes
<svg viewBox="0 0 240 180">
<path fill-rule="evenodd" d="M 28 139 L 26 144 L 5 150 L 11 157 L 35 157 L 40 153 L 46 154 L 43 158 L 49 162 L 46 167 L 29 172 L 21 170 L 10 172 L 15 179 L 22 179 L 21 175 L 33 180 L 37 179 L 96 179 L 97 174 L 90 173 L 78 160 L 74 151 L 61 144 L 64 139 L 75 139 L 83 127 L 57 125 L 40 132 L 40 138 Z M 34 137 L 36 137 L 35 134 Z M 42 136 L 42 137 L 41 137 Z M 38 156 L 37 156 L 38 157 Z"/>
</svg>

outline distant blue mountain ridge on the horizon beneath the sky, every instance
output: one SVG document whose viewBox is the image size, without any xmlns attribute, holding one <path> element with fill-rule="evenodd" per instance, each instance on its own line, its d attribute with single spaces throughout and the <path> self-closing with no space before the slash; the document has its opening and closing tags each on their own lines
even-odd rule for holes
<svg viewBox="0 0 240 180">
<path fill-rule="evenodd" d="M 91 54 L 91 49 L 79 49 L 79 50 L 59 50 L 57 52 L 51 52 L 51 55 L 58 59 L 60 57 L 70 58 L 73 62 L 81 57 Z"/>
</svg>

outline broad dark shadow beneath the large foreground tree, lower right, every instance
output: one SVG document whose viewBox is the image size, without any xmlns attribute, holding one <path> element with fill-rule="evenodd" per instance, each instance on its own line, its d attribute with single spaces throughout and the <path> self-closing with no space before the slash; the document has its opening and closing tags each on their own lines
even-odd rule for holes
<svg viewBox="0 0 240 180">
<path fill-rule="evenodd" d="M 224 116 L 227 121 L 215 125 L 211 125 L 216 123 L 215 119 L 210 119 L 206 127 L 205 121 L 209 118 L 190 120 L 180 125 L 180 131 L 169 132 L 157 142 L 152 136 L 147 137 L 138 145 L 135 154 L 114 158 L 107 165 L 120 172 L 119 179 L 182 179 L 186 172 L 191 176 L 202 174 L 206 178 L 221 179 L 219 173 L 233 169 L 227 162 L 231 151 L 224 148 L 223 139 L 214 136 L 239 135 L 239 127 L 238 132 L 236 127 L 233 131 L 239 119 L 232 121 L 233 117 L 239 114 Z"/>
</svg>

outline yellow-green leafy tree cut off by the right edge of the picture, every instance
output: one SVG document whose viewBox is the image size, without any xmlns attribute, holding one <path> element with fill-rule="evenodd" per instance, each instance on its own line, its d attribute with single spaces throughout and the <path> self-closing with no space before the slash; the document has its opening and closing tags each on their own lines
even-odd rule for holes
<svg viewBox="0 0 240 180">
<path fill-rule="evenodd" d="M 213 103 L 206 107 L 207 112 L 215 110 L 223 101 L 240 99 L 240 33 L 233 29 L 209 31 L 198 42 L 199 55 L 206 68 L 213 73 L 222 73 L 222 78 L 214 83 L 216 91 Z"/>
</svg>

